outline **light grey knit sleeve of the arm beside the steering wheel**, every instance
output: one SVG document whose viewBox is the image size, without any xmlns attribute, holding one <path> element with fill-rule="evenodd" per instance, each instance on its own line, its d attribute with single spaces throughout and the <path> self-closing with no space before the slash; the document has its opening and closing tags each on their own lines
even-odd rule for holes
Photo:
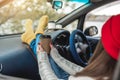
<svg viewBox="0 0 120 80">
<path fill-rule="evenodd" d="M 53 60 L 56 62 L 58 66 L 60 66 L 64 71 L 68 72 L 70 75 L 75 75 L 77 72 L 80 72 L 83 67 L 74 64 L 67 59 L 63 58 L 57 51 L 56 48 L 51 49 L 50 53 Z"/>
</svg>

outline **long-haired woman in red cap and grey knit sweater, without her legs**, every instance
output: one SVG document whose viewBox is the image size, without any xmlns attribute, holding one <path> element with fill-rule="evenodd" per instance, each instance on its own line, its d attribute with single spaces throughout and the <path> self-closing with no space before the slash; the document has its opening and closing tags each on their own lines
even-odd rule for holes
<svg viewBox="0 0 120 80">
<path fill-rule="evenodd" d="M 112 80 L 116 62 L 120 54 L 120 15 L 112 16 L 102 28 L 102 37 L 97 45 L 94 55 L 89 61 L 89 65 L 81 71 L 81 67 L 69 62 L 69 66 L 64 64 L 63 69 L 71 74 L 69 80 Z M 103 45 L 103 46 L 102 46 Z M 56 63 L 67 60 L 59 56 L 57 50 L 51 46 L 50 55 Z M 104 48 L 103 48 L 104 47 Z M 57 54 L 57 55 L 56 55 Z M 57 58 L 56 58 L 57 57 Z M 58 62 L 57 62 L 58 61 Z M 61 62 L 60 61 L 60 62 Z M 61 64 L 61 63 L 58 63 Z M 51 69 L 47 53 L 38 45 L 38 64 L 42 80 L 57 80 L 58 78 Z M 71 67 L 74 65 L 75 68 Z M 59 65 L 60 66 L 60 65 Z M 72 69 L 72 70 L 71 70 Z M 63 79 L 64 80 L 64 79 Z"/>
</svg>

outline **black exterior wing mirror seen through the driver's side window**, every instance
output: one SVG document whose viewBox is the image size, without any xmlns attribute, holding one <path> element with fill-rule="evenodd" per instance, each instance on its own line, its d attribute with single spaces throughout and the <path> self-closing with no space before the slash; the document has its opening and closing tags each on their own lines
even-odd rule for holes
<svg viewBox="0 0 120 80">
<path fill-rule="evenodd" d="M 85 29 L 84 34 L 87 36 L 94 36 L 98 34 L 98 28 L 96 26 L 90 26 Z"/>
</svg>

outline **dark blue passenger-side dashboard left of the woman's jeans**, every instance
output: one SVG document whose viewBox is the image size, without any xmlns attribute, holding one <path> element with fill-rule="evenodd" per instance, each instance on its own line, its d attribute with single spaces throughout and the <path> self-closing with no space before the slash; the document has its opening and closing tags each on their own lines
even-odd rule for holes
<svg viewBox="0 0 120 80">
<path fill-rule="evenodd" d="M 0 37 L 0 73 L 39 80 L 36 57 L 19 35 Z"/>
</svg>

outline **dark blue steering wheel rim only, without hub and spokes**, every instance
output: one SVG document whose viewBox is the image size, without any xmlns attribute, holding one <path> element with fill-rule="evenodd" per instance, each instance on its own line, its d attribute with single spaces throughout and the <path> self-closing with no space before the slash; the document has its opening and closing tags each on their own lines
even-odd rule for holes
<svg viewBox="0 0 120 80">
<path fill-rule="evenodd" d="M 88 53 L 86 53 L 88 59 L 91 57 L 91 48 L 90 48 L 90 45 L 89 45 L 89 42 L 86 38 L 86 36 L 83 34 L 82 31 L 80 30 L 74 30 L 72 32 L 72 34 L 70 35 L 70 39 L 69 39 L 69 42 L 70 42 L 70 52 L 71 52 L 71 55 L 73 56 L 73 59 L 75 60 L 75 62 L 77 64 L 80 64 L 81 66 L 85 67 L 87 65 L 87 62 L 82 60 L 81 57 L 79 56 L 79 54 L 77 53 L 76 51 L 76 47 L 75 47 L 75 35 L 78 34 L 88 45 Z"/>
</svg>

